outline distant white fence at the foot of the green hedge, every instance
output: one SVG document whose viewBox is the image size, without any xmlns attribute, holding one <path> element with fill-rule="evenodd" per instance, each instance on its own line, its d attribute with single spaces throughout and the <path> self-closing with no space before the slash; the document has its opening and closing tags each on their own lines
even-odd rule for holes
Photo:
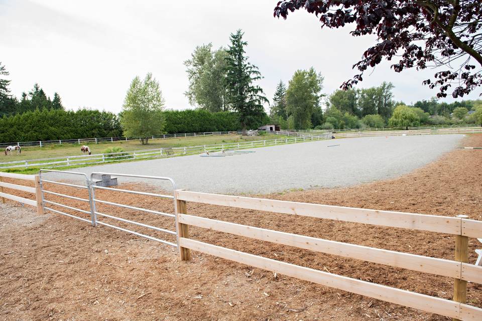
<svg viewBox="0 0 482 321">
<path fill-rule="evenodd" d="M 177 137 L 197 137 L 197 136 L 217 136 L 217 135 L 235 135 L 241 134 L 241 130 L 237 131 L 206 131 L 206 132 L 189 132 L 182 134 L 163 134 L 151 136 L 154 138 L 177 138 Z M 87 142 L 93 142 L 98 144 L 99 142 L 114 142 L 119 140 L 139 140 L 139 137 L 102 137 L 102 138 L 77 138 L 77 139 L 56 139 L 56 140 L 36 140 L 36 141 L 15 141 L 15 142 L 3 142 L 0 143 L 0 148 L 5 148 L 7 146 L 44 146 L 46 144 L 83 144 Z"/>
</svg>

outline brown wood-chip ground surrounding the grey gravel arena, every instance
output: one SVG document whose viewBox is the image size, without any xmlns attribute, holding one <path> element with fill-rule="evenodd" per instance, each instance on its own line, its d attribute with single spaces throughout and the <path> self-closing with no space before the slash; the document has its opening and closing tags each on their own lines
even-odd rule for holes
<svg viewBox="0 0 482 321">
<path fill-rule="evenodd" d="M 404 138 L 407 137 L 400 139 Z M 468 135 L 461 143 L 482 146 L 482 135 Z M 430 150 L 434 149 L 439 148 Z M 409 157 L 413 155 L 407 155 L 407 161 Z M 345 188 L 279 192 L 262 197 L 433 215 L 463 213 L 471 219 L 482 220 L 481 182 L 482 150 L 455 149 L 433 163 L 390 180 Z M 152 187 L 137 183 L 123 184 L 121 188 L 152 191 Z M 86 197 L 86 191 L 73 188 L 47 184 L 46 189 Z M 105 190 L 99 190 L 96 196 L 111 202 L 173 211 L 169 200 L 148 196 L 133 198 Z M 48 199 L 87 210 L 87 204 L 80 201 L 61 200 L 54 195 Z M 453 259 L 454 237 L 445 234 L 192 202 L 187 203 L 187 210 L 193 215 L 223 221 Z M 108 205 L 100 205 L 98 211 L 174 228 L 171 218 L 128 209 L 119 211 Z M 193 252 L 191 261 L 181 262 L 177 251 L 167 245 L 107 227 L 94 228 L 57 214 L 38 216 L 33 209 L 15 202 L 0 204 L 0 215 L 1 321 L 448 320 L 437 314 L 274 275 L 199 252 Z M 136 230 L 146 232 L 142 228 Z M 161 233 L 150 234 L 173 240 Z M 446 277 L 200 228 L 191 228 L 190 234 L 194 239 L 227 248 L 437 297 L 450 299 L 453 292 L 453 280 Z M 474 249 L 480 245 L 476 239 L 469 239 L 469 263 L 475 262 Z M 467 303 L 482 307 L 482 285 L 468 283 L 467 288 Z"/>
</svg>

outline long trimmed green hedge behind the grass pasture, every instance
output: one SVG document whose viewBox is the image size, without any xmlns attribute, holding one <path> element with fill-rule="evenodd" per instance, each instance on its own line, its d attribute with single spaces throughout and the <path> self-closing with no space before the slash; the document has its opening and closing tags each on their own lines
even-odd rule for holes
<svg viewBox="0 0 482 321">
<path fill-rule="evenodd" d="M 186 109 L 166 110 L 163 114 L 164 132 L 168 134 L 241 129 L 235 112 Z M 269 118 L 265 115 L 258 125 L 268 122 Z M 106 111 L 37 109 L 0 118 L 0 142 L 118 136 L 123 136 L 119 117 Z"/>
</svg>

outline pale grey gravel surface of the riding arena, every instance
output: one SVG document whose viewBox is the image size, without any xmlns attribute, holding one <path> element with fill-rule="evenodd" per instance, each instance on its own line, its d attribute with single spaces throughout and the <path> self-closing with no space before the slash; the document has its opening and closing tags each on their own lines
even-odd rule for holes
<svg viewBox="0 0 482 321">
<path fill-rule="evenodd" d="M 223 194 L 346 187 L 407 174 L 456 147 L 463 135 L 343 138 L 252 149 L 226 157 L 199 155 L 72 170 L 165 176 L 179 188 Z M 336 145 L 331 146 L 330 145 Z M 53 176 L 52 176 L 53 177 Z M 60 177 L 56 179 L 68 179 Z M 136 179 L 119 178 L 119 182 Z"/>
</svg>

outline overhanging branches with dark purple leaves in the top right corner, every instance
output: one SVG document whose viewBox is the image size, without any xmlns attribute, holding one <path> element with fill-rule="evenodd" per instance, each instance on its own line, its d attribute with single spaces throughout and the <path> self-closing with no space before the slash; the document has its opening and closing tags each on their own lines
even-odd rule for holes
<svg viewBox="0 0 482 321">
<path fill-rule="evenodd" d="M 351 88 L 363 73 L 383 60 L 396 72 L 432 66 L 450 68 L 423 83 L 438 87 L 437 97 L 452 88 L 454 98 L 482 85 L 482 6 L 478 0 L 284 0 L 275 17 L 305 9 L 315 14 L 322 28 L 355 24 L 352 36 L 375 35 L 377 43 L 353 65 L 359 73 L 342 84 Z M 400 57 L 400 58 L 398 58 Z M 452 69 L 451 66 L 457 67 Z"/>
</svg>

